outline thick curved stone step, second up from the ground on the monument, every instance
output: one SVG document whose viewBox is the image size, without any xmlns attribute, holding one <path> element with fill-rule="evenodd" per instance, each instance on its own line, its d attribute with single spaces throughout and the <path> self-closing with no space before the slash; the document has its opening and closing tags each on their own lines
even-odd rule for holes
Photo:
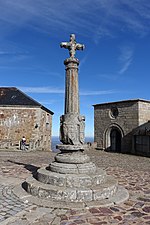
<svg viewBox="0 0 150 225">
<path fill-rule="evenodd" d="M 39 182 L 34 177 L 26 180 L 26 190 L 33 196 L 66 202 L 89 202 L 110 198 L 117 191 L 118 182 L 107 176 L 101 185 L 92 187 L 60 187 Z"/>
</svg>

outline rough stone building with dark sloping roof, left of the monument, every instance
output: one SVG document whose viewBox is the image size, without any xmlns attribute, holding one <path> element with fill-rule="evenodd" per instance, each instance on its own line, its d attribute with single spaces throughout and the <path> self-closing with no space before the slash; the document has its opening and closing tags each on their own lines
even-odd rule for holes
<svg viewBox="0 0 150 225">
<path fill-rule="evenodd" d="M 15 87 L 0 88 L 0 148 L 50 150 L 53 112 Z"/>
</svg>

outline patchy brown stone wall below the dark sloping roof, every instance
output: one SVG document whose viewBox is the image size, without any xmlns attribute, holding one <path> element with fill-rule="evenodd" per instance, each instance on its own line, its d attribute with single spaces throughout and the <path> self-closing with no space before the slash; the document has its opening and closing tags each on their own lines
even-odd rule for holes
<svg viewBox="0 0 150 225">
<path fill-rule="evenodd" d="M 40 107 L 0 107 L 0 148 L 19 148 L 22 136 L 29 149 L 50 150 L 52 115 Z"/>
</svg>

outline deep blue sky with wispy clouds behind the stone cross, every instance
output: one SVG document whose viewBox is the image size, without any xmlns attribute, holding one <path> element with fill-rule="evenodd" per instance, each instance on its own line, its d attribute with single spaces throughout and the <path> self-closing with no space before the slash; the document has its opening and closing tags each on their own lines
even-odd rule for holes
<svg viewBox="0 0 150 225">
<path fill-rule="evenodd" d="M 52 110 L 53 136 L 64 113 L 68 50 L 75 33 L 80 111 L 93 136 L 92 105 L 150 100 L 149 0 L 0 0 L 0 86 L 17 87 Z"/>
</svg>

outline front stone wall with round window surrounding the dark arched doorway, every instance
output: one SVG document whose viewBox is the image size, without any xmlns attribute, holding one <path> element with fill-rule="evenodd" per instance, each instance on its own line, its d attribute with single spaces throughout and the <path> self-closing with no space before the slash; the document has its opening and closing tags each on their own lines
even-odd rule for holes
<svg viewBox="0 0 150 225">
<path fill-rule="evenodd" d="M 122 135 L 121 152 L 132 149 L 132 130 L 138 126 L 138 102 L 122 101 L 94 106 L 94 141 L 99 149 L 110 146 L 113 128 Z"/>
</svg>

